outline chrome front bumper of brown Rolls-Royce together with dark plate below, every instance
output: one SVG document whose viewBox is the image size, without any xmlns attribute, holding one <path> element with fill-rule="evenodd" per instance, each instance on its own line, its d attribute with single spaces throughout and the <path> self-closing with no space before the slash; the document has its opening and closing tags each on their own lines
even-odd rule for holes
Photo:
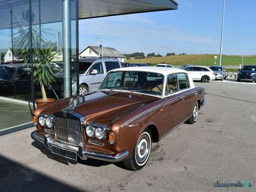
<svg viewBox="0 0 256 192">
<path fill-rule="evenodd" d="M 118 162 L 118 161 L 124 160 L 129 155 L 128 151 L 124 151 L 122 153 L 119 153 L 113 156 L 105 155 L 104 153 L 87 150 L 85 143 L 79 144 L 78 147 L 67 145 L 67 144 L 52 140 L 52 137 L 50 134 L 45 134 L 43 136 L 38 132 L 33 132 L 32 136 L 36 140 L 44 143 L 46 148 L 51 150 L 52 153 L 55 153 L 60 156 L 64 156 L 72 160 L 76 160 L 76 157 L 79 156 L 80 159 L 82 160 L 86 160 L 87 158 L 92 158 L 92 159 L 98 159 L 102 161 Z"/>
</svg>

